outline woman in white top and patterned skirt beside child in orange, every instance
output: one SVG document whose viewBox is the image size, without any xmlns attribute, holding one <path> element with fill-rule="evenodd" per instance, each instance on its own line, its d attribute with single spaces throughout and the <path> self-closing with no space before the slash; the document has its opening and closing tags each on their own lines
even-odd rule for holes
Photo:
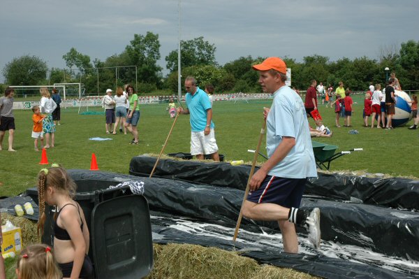
<svg viewBox="0 0 419 279">
<path fill-rule="evenodd" d="M 41 87 L 39 91 L 41 92 L 42 96 L 41 105 L 39 107 L 41 108 L 41 113 L 45 113 L 47 115 L 42 122 L 42 134 L 45 135 L 45 146 L 43 148 L 53 148 L 55 141 L 55 124 L 52 120 L 52 112 L 55 110 L 55 108 L 57 108 L 57 103 L 55 103 L 54 100 L 51 99 L 51 94 L 50 91 L 48 91 L 47 87 Z"/>
</svg>

